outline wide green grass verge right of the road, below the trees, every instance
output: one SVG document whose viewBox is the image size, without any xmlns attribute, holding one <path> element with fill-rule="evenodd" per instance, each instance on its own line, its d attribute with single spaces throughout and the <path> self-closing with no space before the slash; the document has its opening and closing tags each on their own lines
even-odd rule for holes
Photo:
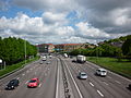
<svg viewBox="0 0 131 98">
<path fill-rule="evenodd" d="M 131 78 L 131 62 L 128 60 L 118 61 L 115 58 L 87 57 L 87 61 L 96 63 L 122 76 Z"/>
</svg>

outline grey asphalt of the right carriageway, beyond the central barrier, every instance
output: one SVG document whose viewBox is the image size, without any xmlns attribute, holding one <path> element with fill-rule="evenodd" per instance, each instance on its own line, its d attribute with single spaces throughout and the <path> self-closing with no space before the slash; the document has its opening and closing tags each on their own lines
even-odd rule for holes
<svg viewBox="0 0 131 98">
<path fill-rule="evenodd" d="M 63 58 L 62 60 L 69 74 L 74 98 L 131 98 L 131 90 L 127 88 L 131 84 L 130 79 L 110 71 L 106 77 L 96 76 L 95 72 L 99 66 L 95 64 L 90 62 L 80 64 L 72 62 L 73 59 Z M 87 79 L 79 79 L 76 77 L 79 72 L 86 72 Z"/>
</svg>

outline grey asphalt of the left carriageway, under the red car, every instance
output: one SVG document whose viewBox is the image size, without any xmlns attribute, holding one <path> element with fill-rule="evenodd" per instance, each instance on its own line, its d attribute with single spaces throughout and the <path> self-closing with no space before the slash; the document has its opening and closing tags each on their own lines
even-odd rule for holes
<svg viewBox="0 0 131 98">
<path fill-rule="evenodd" d="M 57 84 L 58 60 L 51 59 L 50 64 L 31 63 L 23 70 L 0 81 L 0 98 L 55 98 Z M 27 88 L 31 78 L 38 77 L 40 83 L 37 88 Z M 20 79 L 20 86 L 14 90 L 4 90 L 4 86 L 12 78 Z"/>
</svg>

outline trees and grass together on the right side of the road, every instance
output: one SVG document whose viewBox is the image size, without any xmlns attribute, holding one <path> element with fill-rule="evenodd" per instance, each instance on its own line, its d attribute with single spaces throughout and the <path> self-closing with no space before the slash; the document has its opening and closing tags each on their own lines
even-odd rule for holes
<svg viewBox="0 0 131 98">
<path fill-rule="evenodd" d="M 86 56 L 88 61 L 131 78 L 131 35 L 105 40 L 94 48 L 75 49 L 69 54 Z"/>
</svg>

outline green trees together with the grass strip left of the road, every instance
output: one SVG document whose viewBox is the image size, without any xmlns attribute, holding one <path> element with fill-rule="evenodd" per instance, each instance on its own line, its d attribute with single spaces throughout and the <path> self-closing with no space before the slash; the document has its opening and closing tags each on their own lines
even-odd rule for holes
<svg viewBox="0 0 131 98">
<path fill-rule="evenodd" d="M 2 60 L 0 62 L 0 76 L 22 68 L 25 61 L 28 63 L 36 60 L 38 58 L 36 54 L 36 46 L 24 39 L 0 37 L 0 60 Z"/>
</svg>

